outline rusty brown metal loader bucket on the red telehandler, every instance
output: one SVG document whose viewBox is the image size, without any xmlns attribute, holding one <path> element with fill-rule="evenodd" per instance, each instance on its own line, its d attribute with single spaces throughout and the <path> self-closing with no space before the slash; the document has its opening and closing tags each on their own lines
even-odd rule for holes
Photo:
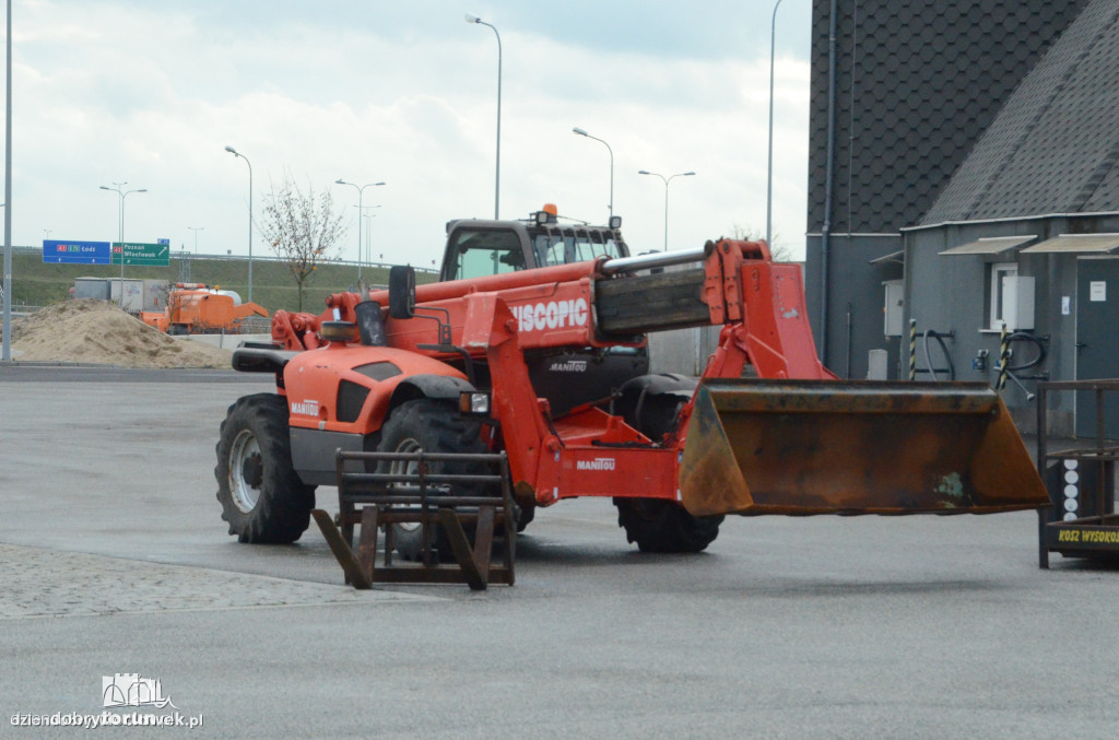
<svg viewBox="0 0 1119 740">
<path fill-rule="evenodd" d="M 707 514 L 989 514 L 1050 503 L 981 383 L 707 380 L 680 460 Z"/>
</svg>

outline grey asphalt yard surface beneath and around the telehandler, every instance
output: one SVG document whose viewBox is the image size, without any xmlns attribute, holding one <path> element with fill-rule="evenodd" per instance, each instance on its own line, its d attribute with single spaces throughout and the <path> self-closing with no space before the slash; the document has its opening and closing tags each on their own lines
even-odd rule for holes
<svg viewBox="0 0 1119 740">
<path fill-rule="evenodd" d="M 0 737 L 88 718 L 130 738 L 1119 727 L 1119 573 L 1040 570 L 1033 513 L 732 517 L 705 553 L 643 555 L 609 502 L 580 499 L 537 512 L 511 588 L 358 592 L 313 528 L 285 546 L 226 534 L 218 425 L 269 380 L 0 366 Z M 154 681 L 163 706 L 105 705 Z M 123 727 L 164 715 L 185 724 Z"/>
</svg>

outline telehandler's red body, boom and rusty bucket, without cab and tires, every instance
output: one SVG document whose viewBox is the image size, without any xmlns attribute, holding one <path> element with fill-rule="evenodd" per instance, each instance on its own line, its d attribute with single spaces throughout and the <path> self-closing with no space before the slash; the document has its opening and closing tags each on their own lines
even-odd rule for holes
<svg viewBox="0 0 1119 740">
<path fill-rule="evenodd" d="M 482 438 L 508 453 L 524 505 L 662 499 L 706 516 L 982 513 L 1047 502 L 989 388 L 956 384 L 930 397 L 897 384 L 827 386 L 836 381 L 816 355 L 798 265 L 773 263 L 763 242 L 723 240 L 689 256 L 702 268 L 639 275 L 640 257 L 600 259 L 420 285 L 407 319 L 380 308 L 391 303 L 386 291 L 331 296 L 320 316 L 278 311 L 273 339 L 293 353 L 274 369 L 295 469 L 308 481 L 317 469 L 326 483 L 328 466 L 309 460 L 327 447 L 369 449 L 401 403 L 482 393 L 490 399 Z M 646 308 L 679 283 L 692 285 L 681 308 Z M 360 341 L 365 301 L 378 305 L 384 346 Z M 636 415 L 614 410 L 618 396 L 554 413 L 526 365 L 533 353 L 640 348 L 645 330 L 704 325 L 723 329 L 698 386 L 642 392 Z M 746 372 L 754 380 L 742 380 Z M 831 387 L 825 395 L 844 403 L 819 413 L 793 408 L 803 394 L 790 381 Z M 641 429 L 641 403 L 652 401 L 675 403 L 674 423 Z M 805 444 L 782 438 L 786 428 Z M 946 439 L 943 430 L 957 428 Z M 329 444 L 310 441 L 323 434 L 332 434 Z M 855 458 L 844 443 L 850 435 L 863 441 Z M 883 457 L 865 459 L 871 442 Z M 902 462 L 882 472 L 890 456 Z"/>
</svg>

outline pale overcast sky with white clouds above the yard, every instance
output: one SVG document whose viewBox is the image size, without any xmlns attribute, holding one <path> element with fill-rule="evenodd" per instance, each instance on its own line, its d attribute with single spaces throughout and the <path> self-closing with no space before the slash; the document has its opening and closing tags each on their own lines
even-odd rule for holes
<svg viewBox="0 0 1119 740">
<path fill-rule="evenodd" d="M 803 254 L 810 3 L 778 11 L 774 240 Z M 253 207 L 285 174 L 329 189 L 357 259 L 431 266 L 451 218 L 555 203 L 631 250 L 765 227 L 772 0 L 13 0 L 12 242 L 126 241 L 247 253 Z M 200 227 L 201 231 L 191 231 Z M 47 233 L 49 230 L 49 234 Z M 254 233 L 258 235 L 258 228 Z M 363 231 L 365 228 L 363 227 Z M 267 254 L 260 241 L 254 254 Z"/>
</svg>

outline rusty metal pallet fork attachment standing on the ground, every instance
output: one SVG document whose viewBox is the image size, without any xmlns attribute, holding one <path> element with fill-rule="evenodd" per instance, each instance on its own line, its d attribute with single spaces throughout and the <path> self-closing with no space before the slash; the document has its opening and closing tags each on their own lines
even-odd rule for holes
<svg viewBox="0 0 1119 740">
<path fill-rule="evenodd" d="M 410 474 L 350 472 L 348 461 L 369 469 L 378 462 L 415 462 Z M 430 462 L 482 462 L 491 475 L 432 474 Z M 514 584 L 516 559 L 516 519 L 509 485 L 509 465 L 499 455 L 454 455 L 421 452 L 336 452 L 338 470 L 338 515 L 322 509 L 311 512 L 322 536 L 356 589 L 374 583 L 467 583 L 482 591 L 493 583 Z M 497 487 L 500 496 L 451 496 L 440 489 L 449 484 L 483 484 Z M 423 549 L 419 562 L 394 564 L 392 525 L 412 523 L 423 528 Z M 474 526 L 471 545 L 463 524 Z M 361 526 L 357 546 L 354 528 Z M 378 530 L 386 527 L 382 563 L 377 563 Z M 455 563 L 439 562 L 433 530 L 441 526 Z M 491 561 L 493 535 L 504 536 L 501 560 Z"/>
</svg>

